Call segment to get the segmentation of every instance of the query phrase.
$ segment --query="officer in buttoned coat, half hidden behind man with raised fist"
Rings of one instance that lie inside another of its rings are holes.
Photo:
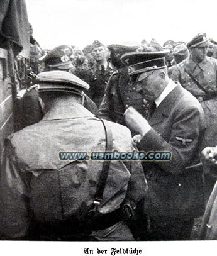
[[[123,113],[128,106],[135,106],[140,113],[148,112],[144,109],[143,97],[136,90],[136,85],[130,82],[128,66],[121,62],[124,53],[136,52],[138,45],[108,45],[110,61],[117,70],[111,75],[103,101],[99,107],[99,116],[109,121],[125,125]]]

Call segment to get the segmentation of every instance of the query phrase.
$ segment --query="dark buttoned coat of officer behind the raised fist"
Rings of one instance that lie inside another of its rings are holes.
[[[123,114],[129,106],[133,106],[143,116],[147,117],[149,104],[143,102],[143,97],[136,87],[130,82],[128,68],[111,75],[103,101],[99,107],[99,116],[109,121],[125,125]]]

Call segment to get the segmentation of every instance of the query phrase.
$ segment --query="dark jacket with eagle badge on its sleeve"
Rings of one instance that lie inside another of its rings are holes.
[[[201,215],[204,204],[202,173],[186,169],[199,162],[204,131],[201,105],[178,84],[148,122],[152,128],[138,148],[145,152],[171,152],[172,159],[143,162],[148,182],[145,210],[151,216],[194,218]]]

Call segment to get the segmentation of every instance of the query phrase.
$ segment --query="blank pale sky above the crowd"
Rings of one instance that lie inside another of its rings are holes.
[[[26,0],[33,36],[42,48],[84,48],[155,38],[188,42],[199,32],[217,40],[215,0]]]

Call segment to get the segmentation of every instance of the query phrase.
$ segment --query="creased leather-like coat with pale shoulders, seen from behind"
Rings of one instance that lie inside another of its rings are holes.
[[[128,128],[109,123],[113,148],[131,151]],[[73,220],[76,204],[92,205],[102,160],[60,160],[59,152],[105,150],[101,121],[83,106],[61,103],[43,119],[5,140],[0,180],[0,235],[18,238],[30,228],[30,212],[42,223]],[[99,215],[120,208],[125,198],[139,201],[146,183],[138,161],[112,161]],[[42,185],[43,184],[43,185]]]

